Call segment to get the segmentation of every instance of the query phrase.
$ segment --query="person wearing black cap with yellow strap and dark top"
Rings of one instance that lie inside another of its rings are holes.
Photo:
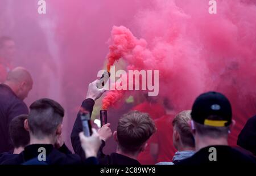
[[[207,92],[197,97],[191,118],[196,153],[177,165],[255,165],[252,156],[228,145],[228,134],[234,121],[230,102],[224,95]]]

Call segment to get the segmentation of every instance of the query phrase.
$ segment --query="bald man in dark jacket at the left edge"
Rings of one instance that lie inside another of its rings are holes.
[[[28,114],[23,100],[31,91],[33,80],[30,73],[22,67],[9,72],[5,83],[0,84],[0,153],[13,152],[8,132],[11,120],[21,114]]]

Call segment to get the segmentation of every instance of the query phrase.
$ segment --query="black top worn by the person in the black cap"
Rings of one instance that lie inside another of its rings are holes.
[[[209,148],[216,148],[216,161],[210,161],[209,155],[212,151]],[[212,145],[200,149],[200,151],[193,154],[185,160],[181,160],[176,165],[255,165],[253,156],[246,155],[237,149],[229,147],[228,145]]]

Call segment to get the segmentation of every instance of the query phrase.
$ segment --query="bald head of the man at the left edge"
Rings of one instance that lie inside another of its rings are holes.
[[[23,67],[16,67],[9,72],[5,84],[13,89],[16,96],[21,100],[27,97],[28,92],[31,91],[33,80],[30,73]]]

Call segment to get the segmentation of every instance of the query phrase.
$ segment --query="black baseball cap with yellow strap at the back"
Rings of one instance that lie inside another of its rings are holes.
[[[196,98],[191,118],[202,125],[229,126],[232,123],[232,108],[228,98],[221,93],[207,92]]]

